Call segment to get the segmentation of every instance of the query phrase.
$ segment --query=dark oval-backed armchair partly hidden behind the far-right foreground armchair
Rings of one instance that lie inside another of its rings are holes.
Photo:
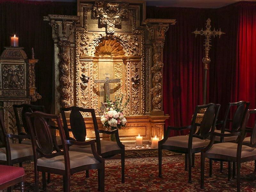
[[[215,130],[217,133],[232,133],[237,132],[242,126],[245,114],[247,109],[249,108],[250,102],[246,101],[238,101],[236,103],[228,103],[228,107],[225,112],[224,120],[217,121],[216,125],[222,125],[221,129]],[[235,112],[231,118],[230,116],[230,110],[235,108]],[[231,124],[231,130],[229,129],[229,125]],[[227,141],[235,141],[237,139],[237,136],[233,137],[215,137],[214,143],[220,143],[220,142],[227,142]],[[228,165],[230,166],[230,165]],[[233,163],[233,167],[236,167],[235,163]],[[220,172],[222,173],[223,170],[223,162],[220,162]],[[212,176],[212,160],[210,159],[210,177]],[[233,172],[233,177],[235,177],[235,172]],[[230,178],[228,178],[230,180]]]

